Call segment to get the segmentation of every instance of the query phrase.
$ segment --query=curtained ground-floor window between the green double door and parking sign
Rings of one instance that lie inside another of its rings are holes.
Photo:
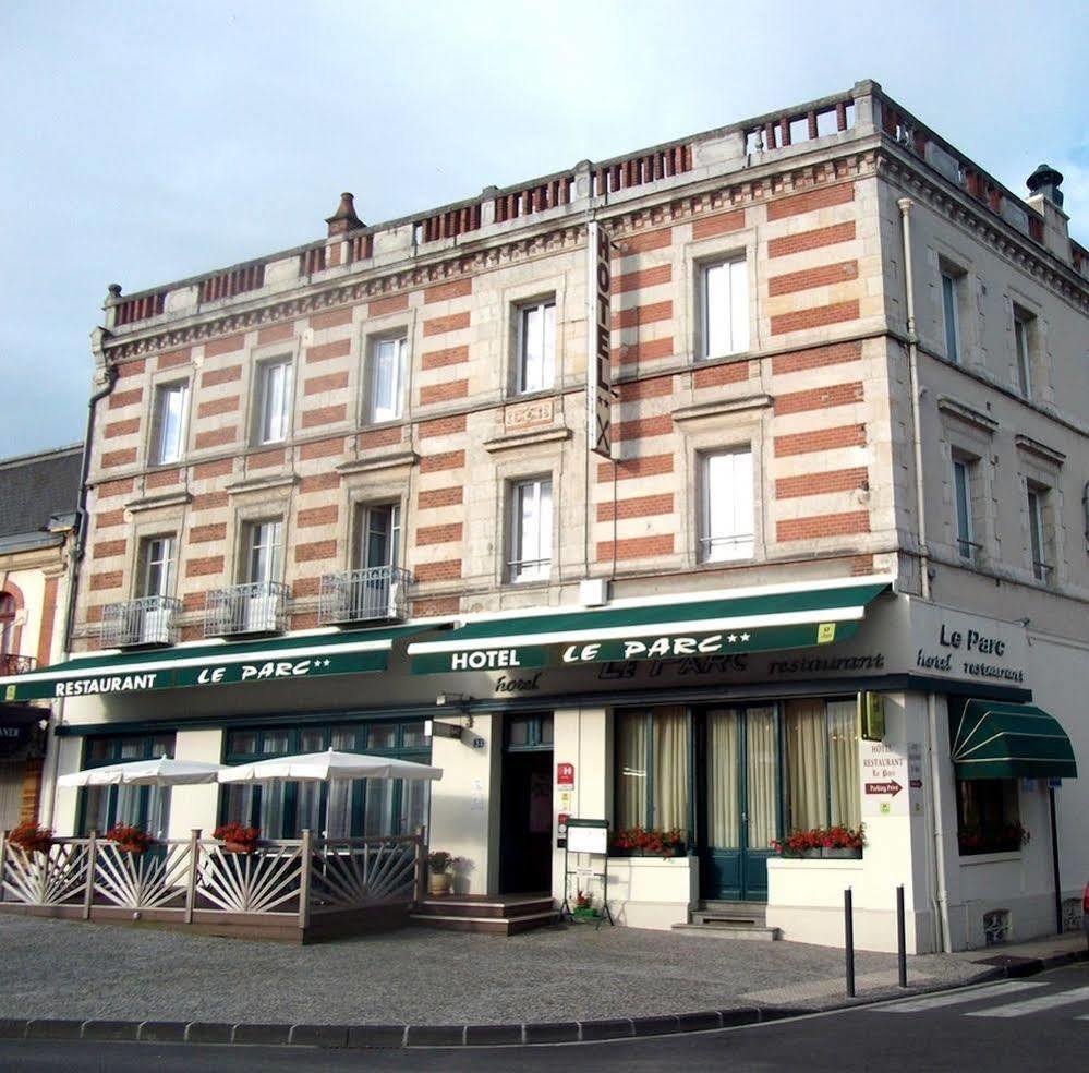
[[[784,718],[787,830],[857,828],[862,807],[856,701],[788,700]]]

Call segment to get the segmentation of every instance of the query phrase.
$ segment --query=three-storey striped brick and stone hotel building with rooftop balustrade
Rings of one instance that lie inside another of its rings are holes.
[[[570,815],[680,831],[609,861],[631,925],[766,901],[835,942],[851,885],[888,948],[897,884],[915,951],[1073,920],[1089,254],[1032,183],[863,82],[390,224],[344,195],[322,241],[111,288],[86,654],[17,686],[63,698],[61,770],[331,745],[445,777],[429,809],[62,792],[59,824],[428,822],[462,891],[560,897]],[[861,860],[770,860],[861,821]]]

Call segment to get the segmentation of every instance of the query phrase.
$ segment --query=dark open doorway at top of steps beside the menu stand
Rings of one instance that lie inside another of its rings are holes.
[[[552,715],[505,723],[499,893],[540,893],[552,889]]]

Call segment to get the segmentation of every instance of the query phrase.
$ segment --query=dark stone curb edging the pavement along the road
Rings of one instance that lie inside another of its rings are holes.
[[[991,965],[971,984],[1034,976],[1089,960],[1089,951],[1049,957],[1002,956],[978,962]],[[969,986],[969,985],[961,985]],[[932,988],[930,991],[955,990]],[[911,989],[907,994],[928,993]],[[898,997],[898,996],[897,996]],[[888,1002],[873,1000],[838,1002],[830,1006],[736,1006],[674,1016],[622,1017],[608,1021],[559,1021],[506,1025],[307,1025],[232,1024],[206,1021],[109,1021],[71,1018],[0,1018],[0,1040],[49,1039],[129,1041],[156,1044],[239,1044],[259,1047],[404,1048],[404,1047],[517,1047],[531,1044],[582,1044],[607,1039],[671,1036],[716,1028],[767,1024],[809,1013],[831,1013]]]

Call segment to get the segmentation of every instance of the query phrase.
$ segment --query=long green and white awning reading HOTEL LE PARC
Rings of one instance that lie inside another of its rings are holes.
[[[765,586],[617,601],[608,607],[489,616],[409,644],[413,674],[728,656],[852,637],[888,578]]]

